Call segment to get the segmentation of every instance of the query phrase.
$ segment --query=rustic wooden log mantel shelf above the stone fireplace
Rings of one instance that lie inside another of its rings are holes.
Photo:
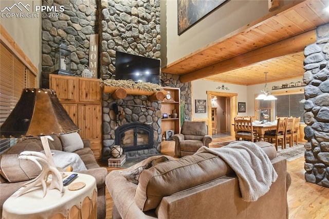
[[[163,100],[167,95],[166,90],[142,90],[136,88],[124,88],[124,87],[116,87],[116,86],[108,86],[104,85],[103,87],[104,93],[110,93],[114,97],[114,99],[124,99],[128,94],[130,95],[145,95],[149,96],[149,100],[158,101]]]

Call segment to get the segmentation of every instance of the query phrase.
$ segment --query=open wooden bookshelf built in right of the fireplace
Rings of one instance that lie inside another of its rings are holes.
[[[174,130],[174,134],[178,134],[180,131],[180,89],[173,87],[164,88],[167,93],[170,93],[171,99],[168,100],[166,97],[161,102],[161,112],[167,114],[168,118],[161,119],[161,130],[162,134],[165,134],[168,130]],[[172,113],[176,111],[177,117],[173,118]]]

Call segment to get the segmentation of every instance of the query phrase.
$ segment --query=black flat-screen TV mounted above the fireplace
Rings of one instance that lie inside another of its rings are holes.
[[[115,79],[159,84],[160,60],[116,51]]]

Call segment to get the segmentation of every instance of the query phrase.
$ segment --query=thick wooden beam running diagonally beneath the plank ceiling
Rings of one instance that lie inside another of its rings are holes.
[[[306,45],[312,44],[315,41],[316,30],[309,30],[277,43],[255,49],[241,54],[240,56],[236,56],[222,62],[217,62],[213,65],[181,75],[179,79],[182,83],[187,83],[197,79],[221,74],[226,71],[242,68],[264,60],[304,51]]]

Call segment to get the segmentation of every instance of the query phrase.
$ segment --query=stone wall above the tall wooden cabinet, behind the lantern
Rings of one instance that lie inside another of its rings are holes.
[[[89,65],[89,36],[98,33],[97,3],[96,0],[42,1],[44,6],[64,6],[64,12],[54,14],[53,17],[42,16],[43,73],[54,72],[54,50],[63,38],[72,52],[72,75],[81,76],[83,65]]]

